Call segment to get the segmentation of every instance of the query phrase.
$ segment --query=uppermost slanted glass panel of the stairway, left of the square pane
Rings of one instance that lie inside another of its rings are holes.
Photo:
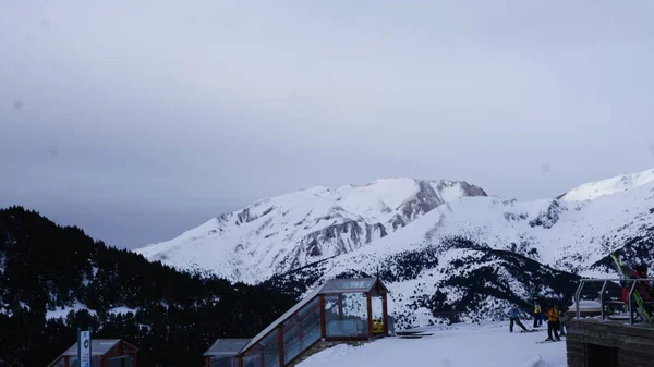
[[[283,323],[284,362],[295,358],[318,339],[320,339],[320,301],[316,297]]]

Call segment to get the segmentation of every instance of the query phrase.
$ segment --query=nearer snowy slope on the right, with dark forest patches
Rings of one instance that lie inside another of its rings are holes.
[[[571,302],[578,276],[614,271],[613,252],[654,265],[653,244],[654,182],[585,201],[464,197],[271,284],[302,294],[330,278],[379,274],[401,325],[436,321],[440,313],[493,319],[536,291]]]

